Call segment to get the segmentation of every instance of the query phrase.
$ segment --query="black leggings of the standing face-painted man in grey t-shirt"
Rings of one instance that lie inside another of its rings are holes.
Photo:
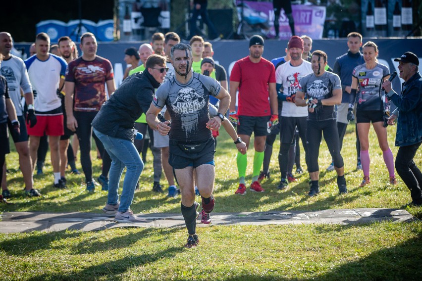
[[[319,146],[322,140],[327,143],[328,150],[334,161],[334,167],[341,168],[344,166],[343,157],[340,155],[340,141],[338,138],[337,125],[335,120],[314,121],[308,120],[306,126],[306,140],[309,152],[309,168],[310,173],[319,171],[318,156]]]

